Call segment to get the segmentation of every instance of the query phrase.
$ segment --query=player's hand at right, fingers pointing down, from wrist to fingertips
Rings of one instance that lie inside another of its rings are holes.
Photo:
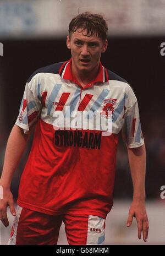
[[[127,227],[130,227],[133,221],[133,217],[136,218],[138,224],[138,238],[141,239],[141,232],[143,239],[146,242],[149,232],[149,220],[146,213],[144,201],[133,201],[129,209],[129,217],[127,220]]]

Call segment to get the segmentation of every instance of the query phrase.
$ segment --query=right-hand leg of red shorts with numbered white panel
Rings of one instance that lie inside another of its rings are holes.
[[[94,215],[63,217],[65,232],[70,245],[102,244],[105,240],[105,219]]]

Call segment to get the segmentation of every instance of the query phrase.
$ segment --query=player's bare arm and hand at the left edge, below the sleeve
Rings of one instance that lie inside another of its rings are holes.
[[[8,138],[4,156],[3,171],[0,179],[0,219],[5,227],[9,225],[7,206],[9,206],[12,215],[16,215],[13,195],[10,192],[10,184],[12,182],[14,171],[17,168],[21,156],[23,155],[28,138],[29,135],[24,134],[23,129],[18,127],[16,124]]]

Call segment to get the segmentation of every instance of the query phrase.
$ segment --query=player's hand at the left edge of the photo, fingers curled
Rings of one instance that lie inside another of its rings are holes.
[[[10,208],[10,212],[13,216],[16,216],[14,208],[14,200],[12,192],[9,188],[4,188],[0,185],[0,220],[5,227],[9,226],[9,221],[7,217],[7,206]]]

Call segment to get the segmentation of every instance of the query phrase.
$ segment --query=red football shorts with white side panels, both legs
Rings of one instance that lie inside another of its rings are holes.
[[[70,245],[102,244],[105,240],[105,219],[102,217],[52,216],[18,206],[8,244],[57,244],[62,221]]]

